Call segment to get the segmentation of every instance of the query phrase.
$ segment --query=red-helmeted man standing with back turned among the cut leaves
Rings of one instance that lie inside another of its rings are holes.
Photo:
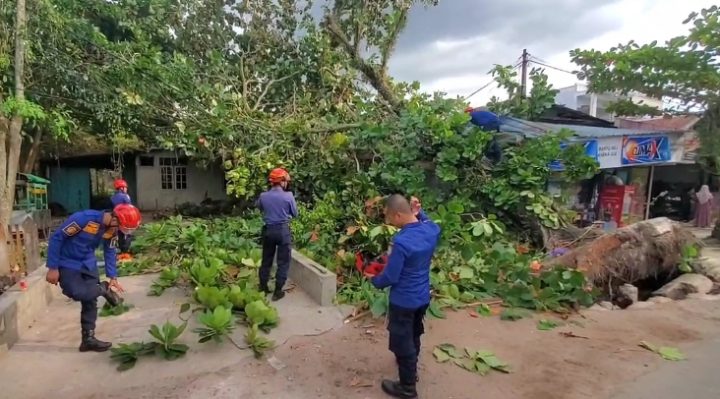
[[[290,220],[297,217],[295,197],[288,190],[290,174],[282,168],[273,169],[268,177],[270,190],[260,194],[256,206],[263,212],[265,225],[262,229],[262,264],[260,265],[260,290],[270,293],[268,281],[275,254],[277,253],[277,272],[273,301],[285,296],[283,287],[290,269],[292,235]]]

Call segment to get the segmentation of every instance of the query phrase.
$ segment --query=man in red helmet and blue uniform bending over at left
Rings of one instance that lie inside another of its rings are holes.
[[[57,285],[65,296],[80,302],[82,343],[80,352],[104,352],[110,342],[95,338],[97,298],[104,297],[112,306],[122,303],[116,293],[124,292],[117,280],[115,242],[118,231],[131,235],[140,226],[140,212],[128,204],[112,211],[87,210],[72,214],[50,237],[45,277]],[[95,249],[103,244],[105,274],[109,281],[100,282]]]

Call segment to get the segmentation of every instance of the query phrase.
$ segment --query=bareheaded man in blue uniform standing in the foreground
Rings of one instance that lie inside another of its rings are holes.
[[[395,355],[399,381],[384,380],[382,390],[396,398],[416,398],[417,362],[423,319],[430,304],[430,262],[440,239],[440,227],[422,211],[420,201],[396,194],[385,203],[385,221],[400,228],[387,265],[372,284],[390,287],[389,349]]]

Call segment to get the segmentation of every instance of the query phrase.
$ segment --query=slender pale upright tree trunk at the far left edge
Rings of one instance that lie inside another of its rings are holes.
[[[25,101],[25,0],[17,0],[15,10],[15,100],[22,106]],[[22,115],[16,113],[8,123],[0,120],[0,155],[5,159],[0,166],[0,275],[9,274],[10,251],[7,245],[8,226],[15,201],[15,177],[20,163],[22,146]]]

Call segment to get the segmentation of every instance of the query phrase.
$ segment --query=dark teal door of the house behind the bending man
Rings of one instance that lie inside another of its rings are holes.
[[[51,167],[50,181],[50,202],[69,213],[90,208],[90,169]]]

